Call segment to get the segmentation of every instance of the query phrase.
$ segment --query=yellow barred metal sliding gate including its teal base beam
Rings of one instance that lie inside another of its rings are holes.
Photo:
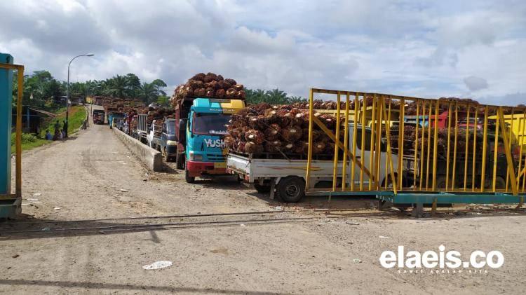
[[[314,116],[314,95],[323,95],[324,99],[330,99],[332,96],[337,101],[335,114],[339,116],[336,116],[335,130],[329,130]],[[344,102],[344,107],[340,107],[341,102]],[[524,201],[525,158],[521,156],[522,151],[515,153],[513,142],[516,140],[512,140],[513,132],[505,123],[504,114],[526,118],[526,108],[490,106],[464,100],[436,100],[315,88],[309,93],[309,107],[309,152],[305,176],[307,195],[377,195],[379,200],[394,205],[412,204],[422,207],[424,204],[431,204],[433,210],[437,204],[445,203],[522,205]],[[439,134],[438,116],[443,114],[444,109],[447,109],[447,126],[440,128]],[[398,130],[403,130],[402,132],[391,130],[391,113],[394,110],[399,114]],[[415,118],[422,115],[431,118],[431,123],[418,123],[414,130],[407,131],[404,128],[406,111],[416,113]],[[482,128],[478,128],[478,125],[460,126],[461,112],[465,113],[468,122],[470,116],[475,121],[483,122]],[[493,124],[488,123],[491,115],[497,118]],[[360,125],[349,124],[349,121]],[[335,137],[335,134],[340,134],[340,126],[345,129],[344,139]],[[372,155],[370,158],[364,158],[363,145],[359,149],[356,140],[349,141],[348,137],[349,128],[353,128],[356,134],[357,128],[363,128],[364,131],[365,126],[370,126],[373,130],[369,144]],[[311,148],[315,127],[323,130],[332,142],[335,142],[330,188],[311,188],[310,185],[316,178]],[[414,137],[408,137],[407,133]],[[464,146],[460,144],[460,137],[466,139]],[[518,144],[522,149],[523,138],[520,137],[520,140]],[[387,145],[387,159],[384,165],[382,157],[379,156],[382,141]],[[441,149],[438,146],[439,142]],[[412,149],[408,150],[407,146],[412,146]],[[394,158],[393,154],[403,156]],[[407,158],[412,161],[407,161]],[[443,160],[439,160],[440,158]],[[411,169],[407,167],[407,163],[410,162]],[[437,169],[438,165],[445,165],[445,169]],[[502,165],[505,167],[501,167]],[[350,172],[347,168],[349,166]],[[502,173],[503,169],[506,172]],[[381,174],[389,174],[389,184],[388,181],[383,181]],[[365,175],[372,181],[365,184]]]

